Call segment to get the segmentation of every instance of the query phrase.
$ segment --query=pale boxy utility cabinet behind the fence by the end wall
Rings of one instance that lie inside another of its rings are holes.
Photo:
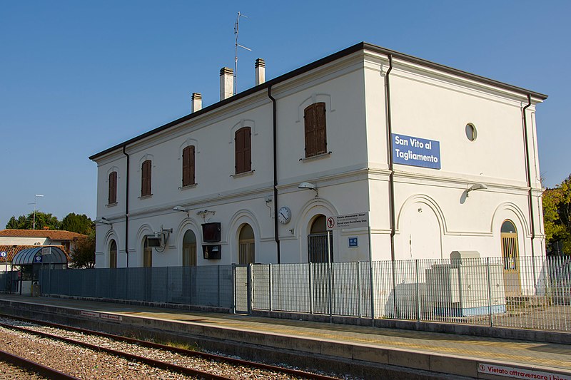
[[[438,315],[469,317],[505,312],[502,265],[487,265],[477,251],[454,251],[450,264],[426,269],[426,287]]]

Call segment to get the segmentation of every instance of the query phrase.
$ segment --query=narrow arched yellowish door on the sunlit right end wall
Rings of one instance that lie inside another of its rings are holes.
[[[520,255],[517,245],[517,230],[511,220],[504,220],[502,223],[501,239],[505,295],[517,297],[521,294]]]

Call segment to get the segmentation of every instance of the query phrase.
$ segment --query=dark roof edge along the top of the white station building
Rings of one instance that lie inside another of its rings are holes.
[[[147,138],[148,136],[159,133],[162,130],[166,130],[168,128],[171,128],[174,125],[178,125],[178,124],[183,123],[185,121],[191,120],[191,119],[196,118],[200,115],[203,115],[205,113],[216,110],[217,108],[220,108],[222,106],[226,106],[226,104],[228,104],[228,103],[238,101],[241,98],[245,98],[246,96],[250,96],[251,94],[256,93],[258,91],[262,91],[262,90],[264,90],[270,86],[275,86],[278,83],[281,83],[283,81],[287,81],[290,78],[293,78],[293,77],[298,76],[302,73],[306,73],[308,71],[311,71],[314,68],[324,66],[330,62],[338,60],[339,58],[343,58],[343,57],[348,56],[350,54],[353,54],[357,51],[363,51],[363,50],[373,51],[375,53],[380,53],[380,54],[383,54],[386,56],[388,56],[389,54],[392,54],[393,58],[400,59],[401,61],[407,61],[410,63],[416,63],[420,66],[425,66],[428,68],[434,68],[435,70],[440,70],[440,71],[443,71],[445,73],[450,73],[450,74],[453,74],[456,76],[460,76],[462,78],[468,78],[470,80],[477,81],[480,83],[485,83],[485,84],[490,85],[490,86],[495,86],[495,87],[502,88],[502,89],[505,89],[508,91],[513,91],[515,93],[520,93],[520,94],[522,94],[522,96],[527,96],[529,94],[532,97],[539,98],[541,100],[547,99],[547,95],[544,95],[542,93],[537,93],[535,91],[526,90],[525,88],[512,86],[512,85],[507,84],[507,83],[502,83],[502,82],[495,81],[495,80],[490,79],[490,78],[485,78],[484,76],[478,76],[478,75],[475,75],[473,73],[468,73],[466,71],[458,70],[456,68],[451,68],[451,67],[440,65],[438,63],[434,63],[431,61],[426,61],[425,59],[417,58],[415,56],[409,56],[408,54],[399,53],[398,51],[390,50],[388,48],[382,48],[380,46],[373,45],[372,43],[360,42],[360,43],[356,43],[353,46],[345,48],[341,51],[338,51],[337,53],[333,53],[330,56],[326,56],[324,58],[318,59],[318,61],[314,61],[312,63],[305,65],[305,66],[301,66],[300,68],[296,68],[293,71],[290,71],[290,72],[285,73],[281,76],[273,78],[270,81],[262,83],[258,86],[248,88],[248,90],[242,91],[241,93],[237,93],[235,96],[231,96],[230,98],[224,99],[223,101],[219,101],[218,103],[214,103],[211,106],[208,106],[206,108],[202,108],[200,111],[196,111],[196,112],[191,113],[189,115],[183,116],[182,118],[178,118],[176,120],[171,121],[171,123],[161,125],[158,128],[154,128],[152,130],[149,130],[148,132],[143,133],[141,135],[138,135],[138,136],[131,138],[129,140],[126,140],[123,143],[114,145],[111,148],[108,148],[108,149],[103,150],[99,153],[91,155],[89,157],[89,159],[90,160],[96,160],[97,158],[101,157],[102,155],[106,155],[107,153],[111,153],[114,150],[118,150],[120,148],[123,148],[123,146],[130,145],[132,143],[136,143],[137,141],[142,140],[143,138]]]

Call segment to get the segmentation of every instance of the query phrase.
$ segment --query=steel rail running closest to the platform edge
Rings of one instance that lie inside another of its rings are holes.
[[[69,330],[69,331],[73,331],[73,332],[81,332],[84,334],[91,334],[91,335],[96,335],[98,337],[106,337],[108,339],[113,339],[116,341],[120,341],[120,342],[125,342],[125,343],[130,343],[130,344],[137,344],[138,346],[146,346],[149,348],[153,348],[153,349],[163,349],[166,351],[171,351],[173,353],[176,354],[183,354],[185,356],[196,356],[196,357],[201,357],[202,359],[210,359],[213,361],[221,361],[221,362],[226,362],[228,364],[236,364],[236,365],[241,365],[241,366],[250,366],[253,368],[257,368],[257,369],[266,369],[268,371],[276,371],[276,372],[281,372],[284,374],[290,374],[293,376],[298,376],[298,377],[302,377],[302,378],[307,378],[307,379],[317,379],[317,380],[331,380],[331,379],[335,379],[334,377],[330,377],[330,376],[325,376],[325,375],[320,375],[320,374],[313,374],[310,372],[306,372],[306,371],[300,371],[298,369],[289,369],[289,368],[284,368],[281,366],[273,366],[271,364],[263,364],[263,363],[258,363],[256,361],[247,361],[247,360],[243,360],[243,359],[236,359],[236,358],[231,358],[228,356],[221,356],[221,355],[215,355],[215,354],[207,354],[206,352],[199,352],[199,351],[192,351],[189,349],[182,349],[182,348],[178,348],[178,347],[173,347],[173,346],[166,346],[164,344],[158,344],[158,343],[154,343],[154,342],[148,342],[145,340],[140,340],[140,339],[134,339],[134,338],[128,338],[128,337],[123,337],[121,335],[114,335],[114,334],[107,334],[105,332],[96,332],[94,330],[89,330],[89,329],[82,329],[80,327],[71,327],[71,326],[66,326],[63,324],[55,324],[55,323],[51,323],[51,322],[44,322],[44,321],[39,321],[37,319],[29,319],[29,318],[23,318],[23,317],[13,317],[11,315],[8,314],[1,314],[0,313],[0,317],[6,317],[6,318],[10,318],[10,319],[15,319],[15,320],[21,320],[24,322],[30,322],[30,323],[34,323],[34,324],[40,324],[40,325],[44,325],[46,327],[54,327],[57,329],[65,329],[65,330]],[[1,326],[4,326],[4,324],[1,324]],[[11,328],[11,325],[6,325],[6,328]],[[30,329],[25,329],[25,328],[19,328],[19,329],[24,329],[26,332],[32,332],[32,333],[36,333],[33,330]],[[46,333],[40,333],[40,334],[46,334]],[[48,334],[49,335],[49,334]],[[61,338],[61,337],[57,337],[54,336],[54,338],[56,339],[67,339],[67,338]],[[80,342],[81,343],[81,342]],[[101,347],[102,349],[105,349],[103,347]],[[161,362],[162,363],[162,362]],[[181,368],[186,368],[186,367],[181,367]],[[226,379],[225,377],[221,377],[221,378],[213,378],[213,379]]]

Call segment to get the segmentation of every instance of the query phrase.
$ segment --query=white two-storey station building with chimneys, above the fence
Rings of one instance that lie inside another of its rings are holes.
[[[91,156],[96,267],[545,255],[547,96],[368,43],[270,81],[264,65]]]

